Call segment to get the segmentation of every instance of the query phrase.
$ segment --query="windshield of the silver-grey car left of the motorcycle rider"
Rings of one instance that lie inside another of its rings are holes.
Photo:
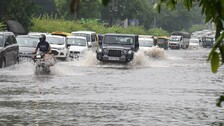
[[[20,47],[36,47],[39,41],[38,38],[17,37],[17,43]]]

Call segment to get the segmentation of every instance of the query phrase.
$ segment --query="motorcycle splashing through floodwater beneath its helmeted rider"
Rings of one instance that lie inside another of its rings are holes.
[[[51,58],[49,60],[49,57]],[[50,67],[54,65],[52,61],[53,56],[45,53],[37,53],[34,57],[34,62],[36,63],[35,73],[36,74],[50,74]]]

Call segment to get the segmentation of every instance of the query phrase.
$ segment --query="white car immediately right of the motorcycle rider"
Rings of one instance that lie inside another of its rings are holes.
[[[69,49],[67,45],[67,39],[58,35],[47,35],[46,41],[51,46],[51,52],[55,58],[66,60],[69,56]]]

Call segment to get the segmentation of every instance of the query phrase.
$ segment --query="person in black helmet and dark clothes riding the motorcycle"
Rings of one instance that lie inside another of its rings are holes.
[[[50,54],[51,53],[51,46],[46,41],[46,36],[44,34],[41,34],[39,40],[40,40],[40,42],[37,44],[35,54],[37,53],[38,49],[39,49],[39,51],[41,51],[43,53]]]

